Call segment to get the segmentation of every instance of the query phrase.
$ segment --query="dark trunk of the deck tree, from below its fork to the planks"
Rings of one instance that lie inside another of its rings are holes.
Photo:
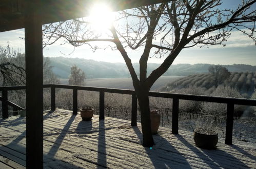
[[[143,146],[151,147],[154,145],[150,125],[149,92],[146,90],[136,91],[141,110],[141,124],[143,135]]]

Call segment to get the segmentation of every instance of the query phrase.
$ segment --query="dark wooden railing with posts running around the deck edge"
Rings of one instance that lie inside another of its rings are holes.
[[[73,114],[77,114],[77,90],[95,91],[100,95],[100,119],[105,118],[105,93],[119,93],[128,94],[132,97],[132,110],[131,110],[131,125],[137,125],[137,98],[134,90],[124,89],[111,89],[111,88],[97,88],[86,86],[72,86],[72,85],[44,85],[44,88],[51,89],[51,110],[55,110],[55,89],[72,89],[73,90]],[[10,90],[22,90],[26,89],[25,86],[18,87],[0,87],[2,91],[2,107],[3,118],[8,117],[8,91]],[[227,104],[227,118],[226,118],[226,137],[225,143],[232,144],[233,134],[233,118],[234,118],[234,104],[251,105],[256,106],[256,100],[243,99],[243,98],[227,98],[227,97],[214,97],[214,96],[201,96],[201,95],[189,95],[189,94],[176,94],[176,93],[162,93],[162,92],[150,92],[149,96],[172,98],[172,134],[178,134],[178,121],[179,121],[179,100],[193,100],[193,101],[205,101]]]

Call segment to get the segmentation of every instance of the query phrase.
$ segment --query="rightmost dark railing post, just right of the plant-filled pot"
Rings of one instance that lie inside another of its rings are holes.
[[[229,145],[232,145],[233,119],[234,119],[234,104],[228,103],[225,144],[229,144]]]

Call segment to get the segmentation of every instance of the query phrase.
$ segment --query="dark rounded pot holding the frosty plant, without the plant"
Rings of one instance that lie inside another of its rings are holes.
[[[194,132],[194,141],[196,146],[202,149],[216,149],[216,144],[218,143],[218,134],[206,135]]]

